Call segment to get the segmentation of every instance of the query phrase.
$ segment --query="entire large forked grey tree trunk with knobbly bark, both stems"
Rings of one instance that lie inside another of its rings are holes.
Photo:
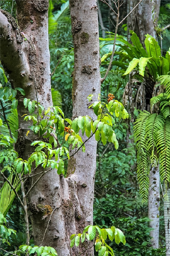
[[[95,0],[70,1],[72,33],[75,51],[73,74],[73,118],[89,115],[96,118],[89,104],[100,93],[99,30]],[[48,0],[16,1],[17,20],[0,11],[1,61],[8,71],[12,86],[25,90],[25,97],[37,100],[47,109],[52,106],[50,88],[50,55],[48,48]],[[33,21],[33,22],[30,22]],[[25,38],[25,40],[24,40]],[[37,94],[37,96],[36,96]],[[89,103],[87,96],[94,94]],[[18,103],[19,131],[16,150],[27,159],[34,151],[35,140],[30,123],[23,121],[27,110],[23,98]],[[43,139],[43,138],[41,138]],[[83,140],[86,136],[83,137]],[[70,235],[78,234],[93,223],[94,177],[96,146],[92,137],[86,143],[86,152],[78,152],[69,160],[64,178],[56,170],[46,173],[29,193],[28,209],[36,245],[54,247],[60,256],[94,255],[91,242],[70,249]],[[37,168],[34,174],[42,172]],[[34,176],[25,185],[27,192],[38,178]],[[44,214],[45,211],[45,214]]]

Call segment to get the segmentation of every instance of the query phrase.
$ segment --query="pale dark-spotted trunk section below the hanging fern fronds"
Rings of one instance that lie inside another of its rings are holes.
[[[158,166],[153,166],[149,174],[148,218],[152,236],[152,246],[159,248],[159,214],[160,214],[160,175]]]

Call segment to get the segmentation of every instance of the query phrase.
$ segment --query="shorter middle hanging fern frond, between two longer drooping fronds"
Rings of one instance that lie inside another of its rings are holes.
[[[156,137],[157,131],[162,129],[163,125],[163,117],[161,115],[157,115],[156,113],[150,115],[146,121],[145,139],[147,143],[147,151],[150,155],[150,161],[152,165],[158,160],[157,156],[155,155]]]

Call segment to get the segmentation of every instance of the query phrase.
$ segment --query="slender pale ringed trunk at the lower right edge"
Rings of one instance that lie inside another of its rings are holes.
[[[164,185],[165,191],[165,185]],[[165,223],[165,243],[166,256],[170,255],[170,188],[168,184],[167,198],[164,199],[164,223]]]

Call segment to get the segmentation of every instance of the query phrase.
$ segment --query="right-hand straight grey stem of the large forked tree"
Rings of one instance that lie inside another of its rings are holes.
[[[88,106],[96,101],[100,93],[100,56],[97,4],[94,0],[69,1],[71,12],[72,34],[74,42],[75,69],[73,73],[73,118],[89,115],[93,120],[96,115]],[[88,102],[87,96],[94,94]],[[83,140],[87,139],[86,136]],[[75,219],[76,233],[82,232],[84,226],[93,223],[94,176],[96,170],[97,142],[92,137],[86,144],[86,152],[81,150],[69,160],[68,174],[74,179],[78,198],[78,209]],[[80,251],[87,247],[80,245]],[[89,247],[89,246],[88,246]],[[76,249],[75,254],[78,253]],[[82,255],[93,255],[93,247]]]

